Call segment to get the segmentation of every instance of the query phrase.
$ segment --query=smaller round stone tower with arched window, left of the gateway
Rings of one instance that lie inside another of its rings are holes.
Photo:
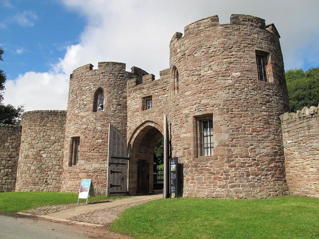
[[[61,191],[77,192],[81,179],[92,178],[97,194],[106,193],[108,126],[126,138],[130,74],[125,63],[99,62],[98,69],[88,64],[70,75]]]

